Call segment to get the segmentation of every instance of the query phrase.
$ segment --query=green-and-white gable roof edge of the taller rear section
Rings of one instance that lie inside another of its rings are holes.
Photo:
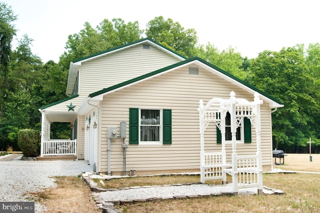
[[[95,53],[95,54],[91,54],[91,55],[88,55],[86,57],[82,57],[82,58],[79,58],[79,59],[75,59],[73,60],[72,62],[70,62],[70,66],[69,66],[69,74],[68,74],[68,81],[67,81],[67,86],[66,86],[66,94],[71,94],[72,93],[72,90],[73,90],[73,85],[75,83],[75,80],[76,80],[76,76],[77,76],[77,72],[79,70],[79,67],[81,65],[82,62],[85,62],[85,61],[88,61],[88,60],[92,60],[94,58],[97,58],[97,57],[101,57],[101,56],[104,56],[104,55],[107,55],[107,54],[111,54],[113,52],[116,52],[116,51],[119,51],[119,50],[123,50],[125,48],[128,48],[128,47],[131,47],[131,46],[134,46],[134,45],[138,45],[138,44],[141,44],[141,43],[148,43],[148,44],[151,44],[159,49],[161,49],[162,51],[176,57],[176,58],[179,58],[180,60],[185,60],[186,57],[184,57],[183,55],[173,51],[172,49],[169,49],[168,47],[160,44],[160,43],[157,43],[156,41],[150,39],[150,38],[142,38],[140,40],[136,40],[136,41],[133,41],[133,42],[130,42],[130,43],[127,43],[127,44],[124,44],[124,45],[121,45],[121,46],[116,46],[114,48],[110,48],[110,49],[107,49],[105,51],[101,51],[101,52],[98,52],[98,53]]]

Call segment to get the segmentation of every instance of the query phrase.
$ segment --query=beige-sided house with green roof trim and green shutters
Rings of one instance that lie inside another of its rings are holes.
[[[258,92],[263,100],[262,165],[270,170],[271,113],[281,102],[199,57],[187,59],[148,38],[70,63],[69,97],[39,109],[39,158],[70,155],[108,174],[199,171],[199,100],[229,98],[231,91],[249,101]],[[50,123],[57,121],[71,124],[72,138],[50,139]],[[206,150],[221,149],[217,132],[214,125],[207,128]],[[253,129],[239,125],[236,134],[239,153],[256,151]],[[230,140],[230,134],[225,137]]]

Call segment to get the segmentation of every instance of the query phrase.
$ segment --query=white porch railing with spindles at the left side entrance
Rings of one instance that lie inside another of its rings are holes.
[[[43,156],[76,155],[76,139],[44,140],[42,144]]]

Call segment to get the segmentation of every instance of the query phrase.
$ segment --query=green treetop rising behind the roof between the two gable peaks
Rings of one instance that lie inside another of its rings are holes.
[[[198,40],[196,31],[193,28],[184,29],[171,18],[164,20],[162,16],[158,16],[150,20],[146,25],[145,35],[184,56],[195,56]]]

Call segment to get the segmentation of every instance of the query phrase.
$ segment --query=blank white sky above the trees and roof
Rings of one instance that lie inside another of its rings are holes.
[[[194,28],[200,44],[219,50],[232,46],[241,55],[256,57],[298,43],[320,42],[320,1],[317,0],[0,0],[18,15],[17,38],[32,38],[31,50],[43,62],[58,61],[69,34],[88,21],[94,28],[104,18],[138,21],[156,16]],[[16,41],[12,42],[15,48]]]

